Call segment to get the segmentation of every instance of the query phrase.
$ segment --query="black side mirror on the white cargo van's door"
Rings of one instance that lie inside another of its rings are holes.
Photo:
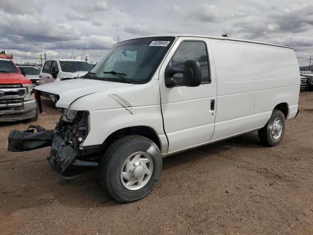
[[[173,75],[175,73],[182,73],[182,83],[178,84]],[[187,87],[197,87],[201,84],[201,65],[197,60],[186,60],[182,70],[176,70],[169,64],[165,69],[165,86],[175,87],[176,85],[182,85]]]

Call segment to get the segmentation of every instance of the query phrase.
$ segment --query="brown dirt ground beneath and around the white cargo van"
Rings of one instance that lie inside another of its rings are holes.
[[[163,159],[147,197],[110,199],[95,172],[64,180],[50,169],[49,148],[7,152],[0,124],[0,234],[313,234],[313,92],[300,94],[297,118],[276,147],[257,132]],[[53,128],[60,113],[44,100],[35,124]],[[32,123],[33,124],[33,123]]]

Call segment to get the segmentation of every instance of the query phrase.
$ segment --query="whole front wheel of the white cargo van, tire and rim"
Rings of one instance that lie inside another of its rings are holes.
[[[101,185],[119,202],[147,196],[161,172],[159,148],[153,141],[138,135],[124,136],[113,142],[99,166]]]

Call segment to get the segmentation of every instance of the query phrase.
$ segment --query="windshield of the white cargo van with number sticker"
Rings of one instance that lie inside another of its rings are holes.
[[[88,78],[145,83],[150,80],[174,39],[153,37],[118,43],[90,71]]]

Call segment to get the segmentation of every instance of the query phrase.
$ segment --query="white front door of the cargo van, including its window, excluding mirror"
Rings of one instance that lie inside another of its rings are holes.
[[[207,39],[179,37],[161,66],[161,109],[169,141],[168,154],[205,144],[213,135],[217,87],[210,71],[208,48]],[[186,60],[200,62],[201,85],[183,86],[182,74],[176,73],[173,78],[178,85],[166,87],[166,66],[171,63],[174,69],[179,70]]]

